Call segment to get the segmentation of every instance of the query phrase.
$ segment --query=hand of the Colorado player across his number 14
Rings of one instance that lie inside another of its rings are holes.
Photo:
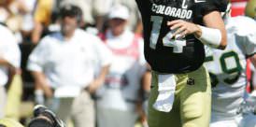
[[[184,37],[193,34],[196,35],[196,37],[199,37],[202,35],[200,27],[192,22],[182,20],[167,21],[167,25],[171,30],[176,30],[173,36],[180,35],[181,37]]]

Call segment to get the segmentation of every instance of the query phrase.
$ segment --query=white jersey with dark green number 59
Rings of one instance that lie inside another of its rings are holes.
[[[206,47],[206,68],[211,75],[212,116],[232,119],[244,101],[246,59],[256,52],[256,22],[243,16],[225,20],[228,45]]]

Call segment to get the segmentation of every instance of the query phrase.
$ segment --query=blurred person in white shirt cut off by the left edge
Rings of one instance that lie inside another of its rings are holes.
[[[9,70],[20,67],[21,51],[16,37],[4,25],[0,24],[0,119],[5,116],[7,104],[7,85]]]

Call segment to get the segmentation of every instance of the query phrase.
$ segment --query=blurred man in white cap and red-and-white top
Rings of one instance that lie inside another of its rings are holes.
[[[101,35],[114,58],[105,85],[97,92],[99,127],[134,127],[138,119],[135,106],[146,62],[143,39],[126,29],[129,18],[127,7],[112,7],[108,15],[109,29]]]

